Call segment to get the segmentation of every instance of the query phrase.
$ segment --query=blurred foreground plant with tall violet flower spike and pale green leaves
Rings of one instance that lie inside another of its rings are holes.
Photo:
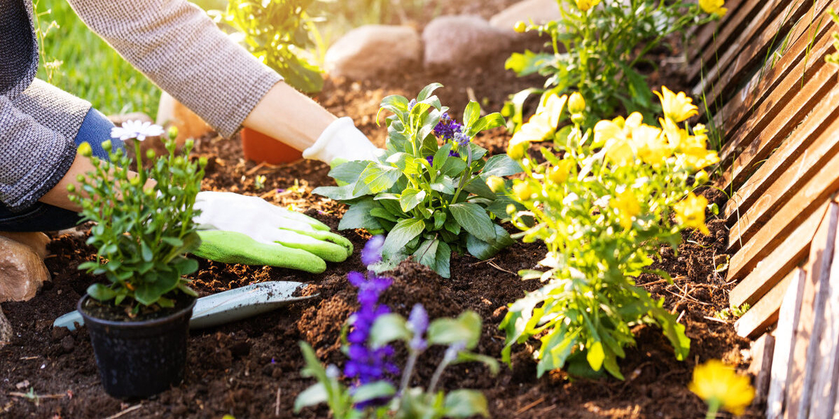
[[[362,251],[362,261],[369,267],[382,258],[383,240],[375,236]],[[481,337],[481,318],[466,311],[457,318],[437,318],[429,323],[428,313],[421,304],[414,305],[408,319],[390,313],[387,306],[378,303],[378,297],[390,286],[390,278],[378,277],[373,272],[367,278],[351,272],[347,278],[358,287],[361,308],[352,314],[352,330],[347,335],[349,360],[344,374],[352,385],[341,383],[341,371],[336,365],[324,368],[309,344],[300,343],[306,367],[303,375],[318,381],[297,396],[294,411],[305,406],[326,402],[336,419],[364,417],[427,418],[489,416],[487,399],[480,391],[459,389],[439,391],[437,384],[446,367],[462,362],[482,362],[498,373],[498,362],[481,354],[472,354]],[[398,375],[393,365],[390,344],[401,341],[408,349],[399,389],[388,379]],[[446,352],[431,376],[429,385],[409,387],[414,365],[430,345],[444,345]]]

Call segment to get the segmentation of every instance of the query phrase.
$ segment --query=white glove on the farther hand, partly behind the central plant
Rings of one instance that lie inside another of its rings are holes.
[[[313,158],[331,164],[341,161],[375,160],[384,151],[373,145],[363,132],[358,131],[352,118],[344,116],[329,124],[311,147],[303,150],[303,158]]]

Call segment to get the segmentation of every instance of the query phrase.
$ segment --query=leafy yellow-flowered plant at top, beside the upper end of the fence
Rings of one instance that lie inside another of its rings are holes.
[[[518,131],[524,122],[524,101],[534,94],[542,101],[550,95],[578,91],[586,97],[588,114],[612,117],[621,107],[627,112],[654,115],[659,111],[638,65],[654,65],[647,54],[670,34],[685,34],[690,26],[707,23],[722,14],[722,0],[557,0],[561,18],[542,25],[521,22],[519,32],[538,31],[550,36],[550,53],[513,53],[505,67],[519,76],[547,77],[542,88],[513,95],[504,106],[508,127]],[[711,13],[711,14],[706,14]],[[704,16],[703,16],[704,15]]]

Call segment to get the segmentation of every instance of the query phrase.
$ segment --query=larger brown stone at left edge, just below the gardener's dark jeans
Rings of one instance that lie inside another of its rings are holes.
[[[29,246],[0,237],[0,303],[26,301],[35,296],[50,272]]]

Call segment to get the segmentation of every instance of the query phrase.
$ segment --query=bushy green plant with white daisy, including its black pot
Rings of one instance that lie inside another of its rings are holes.
[[[206,159],[191,162],[175,153],[175,135],[166,142],[168,155],[145,157],[139,141],[163,129],[148,122],[128,122],[113,135],[134,142],[138,174],[122,150],[110,162],[91,157],[94,170],[70,185],[70,199],[82,208],[82,222],[95,221],[87,243],[96,247],[96,261],[79,269],[107,277],[81,297],[78,310],[91,334],[96,365],[105,391],[117,398],[147,397],[183,380],[189,320],[197,294],[184,276],[198,268],[185,253],[200,243],[193,209],[201,189]],[[185,143],[188,155],[193,144]],[[110,141],[102,143],[110,150]],[[157,182],[155,183],[154,180]]]

